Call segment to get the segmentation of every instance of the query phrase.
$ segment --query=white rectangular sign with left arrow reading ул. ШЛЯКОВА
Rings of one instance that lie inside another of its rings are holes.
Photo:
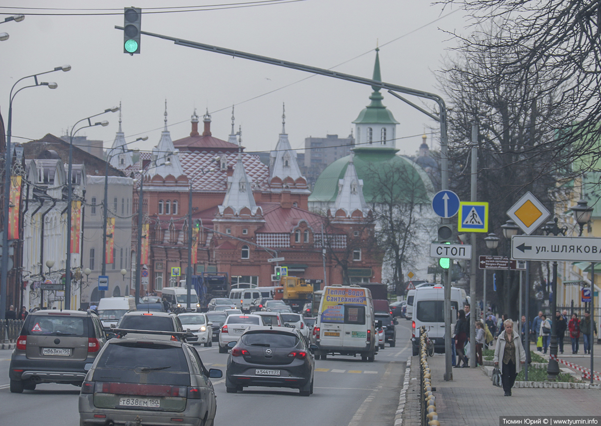
[[[601,238],[516,235],[511,258],[526,261],[601,262]]]

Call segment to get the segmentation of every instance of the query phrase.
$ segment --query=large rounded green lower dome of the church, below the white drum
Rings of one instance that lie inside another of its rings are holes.
[[[354,150],[353,164],[359,179],[363,179],[363,195],[367,203],[377,202],[378,181],[383,178],[377,176],[378,171],[383,173],[392,168],[402,170],[406,174],[404,185],[398,185],[396,197],[400,199],[413,198],[415,203],[430,203],[434,195],[434,187],[428,174],[419,165],[408,158],[397,155],[395,148],[358,147]],[[349,165],[350,155],[337,159],[328,165],[319,175],[309,202],[334,203],[338,195],[338,179],[343,179]]]

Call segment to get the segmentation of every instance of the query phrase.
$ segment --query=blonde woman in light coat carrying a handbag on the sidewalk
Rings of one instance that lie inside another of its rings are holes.
[[[511,397],[511,387],[516,381],[517,373],[522,370],[522,365],[526,362],[526,353],[519,334],[513,330],[513,321],[505,319],[503,325],[505,329],[496,341],[493,360],[495,366],[498,366],[501,370],[501,382],[505,397]]]

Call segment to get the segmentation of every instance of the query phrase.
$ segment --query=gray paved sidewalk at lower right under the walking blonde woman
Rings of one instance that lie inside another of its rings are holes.
[[[428,358],[432,386],[436,388],[436,412],[442,426],[496,425],[499,416],[598,416],[601,391],[597,389],[530,389],[513,388],[513,396],[504,397],[502,387],[495,387],[482,367],[453,368],[453,381],[444,381],[445,356],[435,354]],[[414,356],[410,377],[419,382],[419,359]],[[419,388],[410,386],[407,404],[417,404]],[[406,411],[407,414],[409,411]],[[418,419],[403,416],[403,425],[419,425]]]

